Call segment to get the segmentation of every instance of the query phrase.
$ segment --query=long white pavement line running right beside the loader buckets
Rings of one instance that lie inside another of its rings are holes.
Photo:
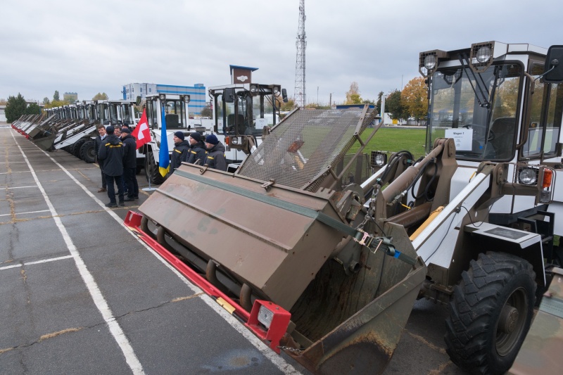
[[[215,312],[217,312],[217,314],[219,314],[221,317],[223,317],[223,319],[225,319],[225,321],[227,321],[227,323],[229,323],[236,331],[241,333],[244,338],[246,338],[252,345],[254,345],[254,347],[256,349],[258,349],[262,353],[262,355],[264,355],[264,357],[266,357],[268,360],[270,360],[270,362],[272,362],[272,364],[274,364],[278,369],[280,369],[280,371],[282,371],[282,372],[284,372],[284,374],[288,374],[288,375],[301,374],[301,372],[297,371],[293,366],[291,366],[291,364],[286,362],[286,360],[284,360],[283,357],[281,357],[280,355],[277,355],[265,343],[262,343],[262,341],[260,341],[260,339],[258,337],[254,336],[253,333],[251,333],[250,331],[248,331],[248,329],[246,329],[244,326],[242,326],[241,322],[236,320],[235,317],[233,317],[231,314],[229,314],[227,311],[225,311],[223,307],[218,305],[212,298],[210,298],[208,295],[203,293],[200,288],[198,288],[194,284],[191,284],[191,282],[188,281],[184,277],[184,275],[180,274],[177,271],[177,269],[172,267],[166,260],[164,260],[160,255],[158,255],[158,253],[156,253],[156,251],[154,251],[150,246],[146,245],[146,243],[141,241],[141,239],[139,239],[139,237],[137,237],[132,231],[129,231],[129,228],[127,228],[125,226],[125,223],[123,222],[121,217],[119,217],[115,212],[113,212],[113,210],[109,210],[102,201],[100,201],[96,196],[94,196],[93,193],[91,193],[91,191],[88,190],[88,188],[86,186],[84,186],[80,181],[75,179],[75,177],[72,176],[72,174],[70,174],[70,172],[68,172],[68,170],[66,170],[66,168],[63,167],[63,165],[57,163],[56,160],[51,158],[51,155],[49,155],[49,153],[46,153],[45,151],[43,151],[43,153],[46,155],[47,158],[51,159],[51,161],[53,163],[55,163],[55,165],[57,167],[61,168],[61,170],[63,172],[65,172],[68,175],[68,177],[70,177],[70,179],[72,179],[72,181],[75,182],[75,184],[80,186],[82,188],[82,190],[84,190],[84,192],[87,193],[88,196],[90,196],[90,198],[94,199],[94,201],[96,201],[96,203],[98,203],[101,206],[101,208],[106,210],[108,212],[108,214],[111,217],[113,217],[113,219],[116,222],[118,222],[122,227],[127,229],[127,232],[129,234],[131,234],[131,236],[134,239],[136,239],[142,246],[144,246],[144,248],[146,248],[148,251],[150,251],[156,257],[156,259],[160,260],[160,262],[162,262],[163,265],[165,265],[166,267],[171,269],[172,272],[174,272],[179,277],[179,279],[182,279],[182,281],[184,281],[184,283],[187,286],[189,286],[189,288],[191,288],[191,290],[194,291],[194,293],[201,293],[201,295],[198,298],[201,298],[203,300],[203,302],[205,302],[213,310],[215,310]],[[30,166],[30,169],[31,169],[31,166]]]

